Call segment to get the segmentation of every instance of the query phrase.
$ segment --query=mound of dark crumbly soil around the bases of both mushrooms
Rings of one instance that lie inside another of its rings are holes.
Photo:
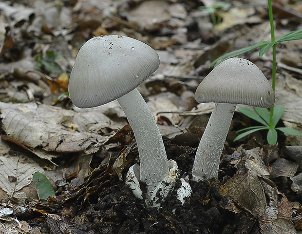
[[[169,142],[167,145],[168,157],[175,160],[181,174],[186,175],[191,170],[196,149]],[[223,199],[218,193],[217,180],[189,181],[193,193],[184,205],[173,190],[159,208],[134,198],[124,181],[111,181],[114,182],[99,193],[97,202],[82,211],[77,207],[76,216],[85,214],[91,225],[89,233],[239,234],[250,231],[255,223],[255,218],[248,213],[234,214],[220,206]],[[180,180],[175,188],[179,186]]]

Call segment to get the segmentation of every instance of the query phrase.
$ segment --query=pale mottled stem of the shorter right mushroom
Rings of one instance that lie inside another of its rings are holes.
[[[236,104],[216,103],[200,140],[192,169],[194,180],[217,178],[221,153]]]

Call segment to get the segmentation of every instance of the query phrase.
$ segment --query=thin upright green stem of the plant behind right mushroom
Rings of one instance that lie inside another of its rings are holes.
[[[273,8],[271,0],[267,0],[268,3],[268,14],[269,14],[269,23],[270,23],[270,33],[271,33],[271,41],[275,41],[275,28],[274,28],[274,16],[273,16]],[[275,83],[276,83],[276,44],[273,45],[273,68],[272,68],[272,88],[275,91]],[[274,107],[270,108],[270,119],[269,119],[269,128],[274,128],[273,124],[273,115],[274,115]]]

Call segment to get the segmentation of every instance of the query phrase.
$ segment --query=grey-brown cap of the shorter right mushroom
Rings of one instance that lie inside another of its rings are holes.
[[[217,102],[271,108],[275,103],[272,86],[252,62],[229,58],[217,65],[198,86],[199,103]]]

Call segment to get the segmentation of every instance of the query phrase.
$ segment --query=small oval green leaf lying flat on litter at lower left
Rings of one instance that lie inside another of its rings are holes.
[[[50,184],[49,180],[45,175],[40,172],[35,172],[33,175],[33,183],[35,184],[38,197],[40,199],[46,200],[48,197],[54,197],[55,191],[53,186]]]

